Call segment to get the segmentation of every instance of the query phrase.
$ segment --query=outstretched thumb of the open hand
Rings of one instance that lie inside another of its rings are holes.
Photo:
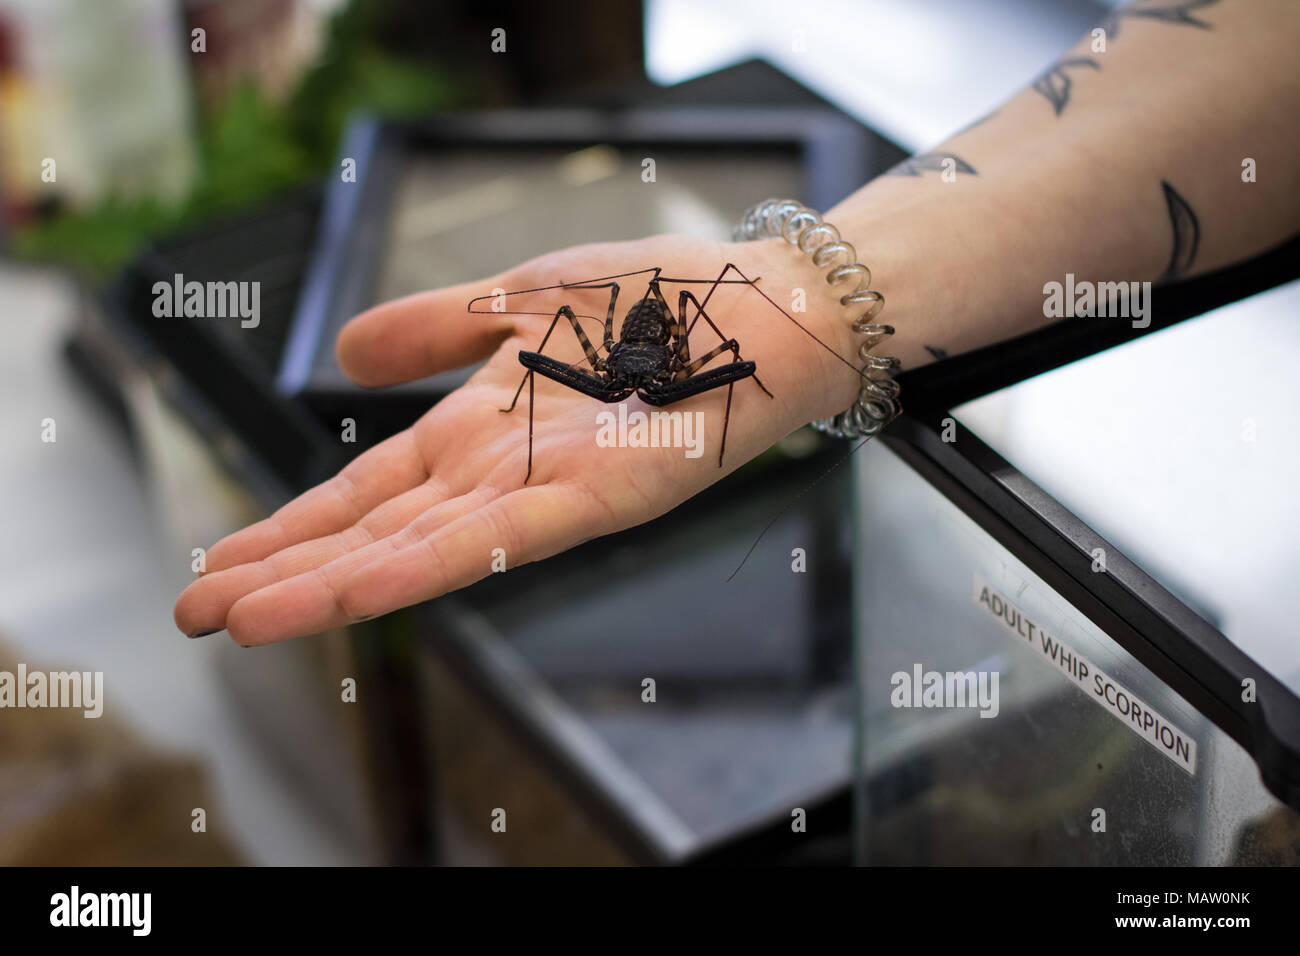
[[[338,336],[338,364],[358,385],[422,378],[485,359],[514,332],[495,312],[468,312],[491,282],[436,289],[385,302],[352,319]]]

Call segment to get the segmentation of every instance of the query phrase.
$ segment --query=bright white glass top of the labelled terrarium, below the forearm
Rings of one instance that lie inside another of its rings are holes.
[[[1297,311],[1292,282],[953,414],[1300,693]]]

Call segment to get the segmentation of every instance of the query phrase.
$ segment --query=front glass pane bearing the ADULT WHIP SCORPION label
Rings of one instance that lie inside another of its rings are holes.
[[[888,447],[857,458],[859,861],[1296,862],[1236,743]]]

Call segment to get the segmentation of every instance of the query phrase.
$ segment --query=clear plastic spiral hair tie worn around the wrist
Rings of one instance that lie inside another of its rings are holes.
[[[889,375],[897,367],[897,359],[871,354],[883,338],[893,334],[893,326],[874,321],[885,307],[885,297],[868,289],[871,269],[857,260],[857,251],[840,238],[840,230],[823,220],[815,209],[793,199],[764,199],[758,206],[751,206],[736,226],[732,238],[736,242],[745,242],[777,235],[811,256],[812,264],[819,269],[831,265],[837,256],[841,256],[840,264],[827,272],[827,285],[833,286],[845,278],[855,277],[857,287],[841,295],[840,304],[870,303],[867,311],[853,320],[853,330],[864,336],[858,346],[858,358],[863,362],[858,401],[833,418],[811,423],[819,432],[836,438],[870,438],[902,411],[898,403],[898,382]]]

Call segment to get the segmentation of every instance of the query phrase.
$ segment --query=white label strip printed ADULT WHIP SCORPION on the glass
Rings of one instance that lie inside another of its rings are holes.
[[[1105,671],[1069,644],[1034,620],[1030,620],[1019,607],[1006,600],[989,584],[975,575],[975,604],[985,613],[997,618],[1019,640],[1040,653],[1080,691],[1098,705],[1114,714],[1134,734],[1174,761],[1188,774],[1196,775],[1196,740],[1152,710],[1144,701],[1130,692],[1123,684],[1108,676]]]

